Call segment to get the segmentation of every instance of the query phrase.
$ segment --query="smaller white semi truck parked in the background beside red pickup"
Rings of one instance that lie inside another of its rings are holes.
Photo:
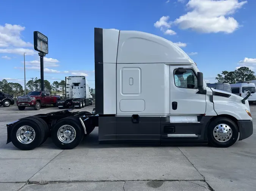
[[[88,81],[85,76],[68,76],[66,82],[66,99],[59,100],[57,105],[59,109],[74,107],[83,108],[87,105],[93,105],[93,96]]]

